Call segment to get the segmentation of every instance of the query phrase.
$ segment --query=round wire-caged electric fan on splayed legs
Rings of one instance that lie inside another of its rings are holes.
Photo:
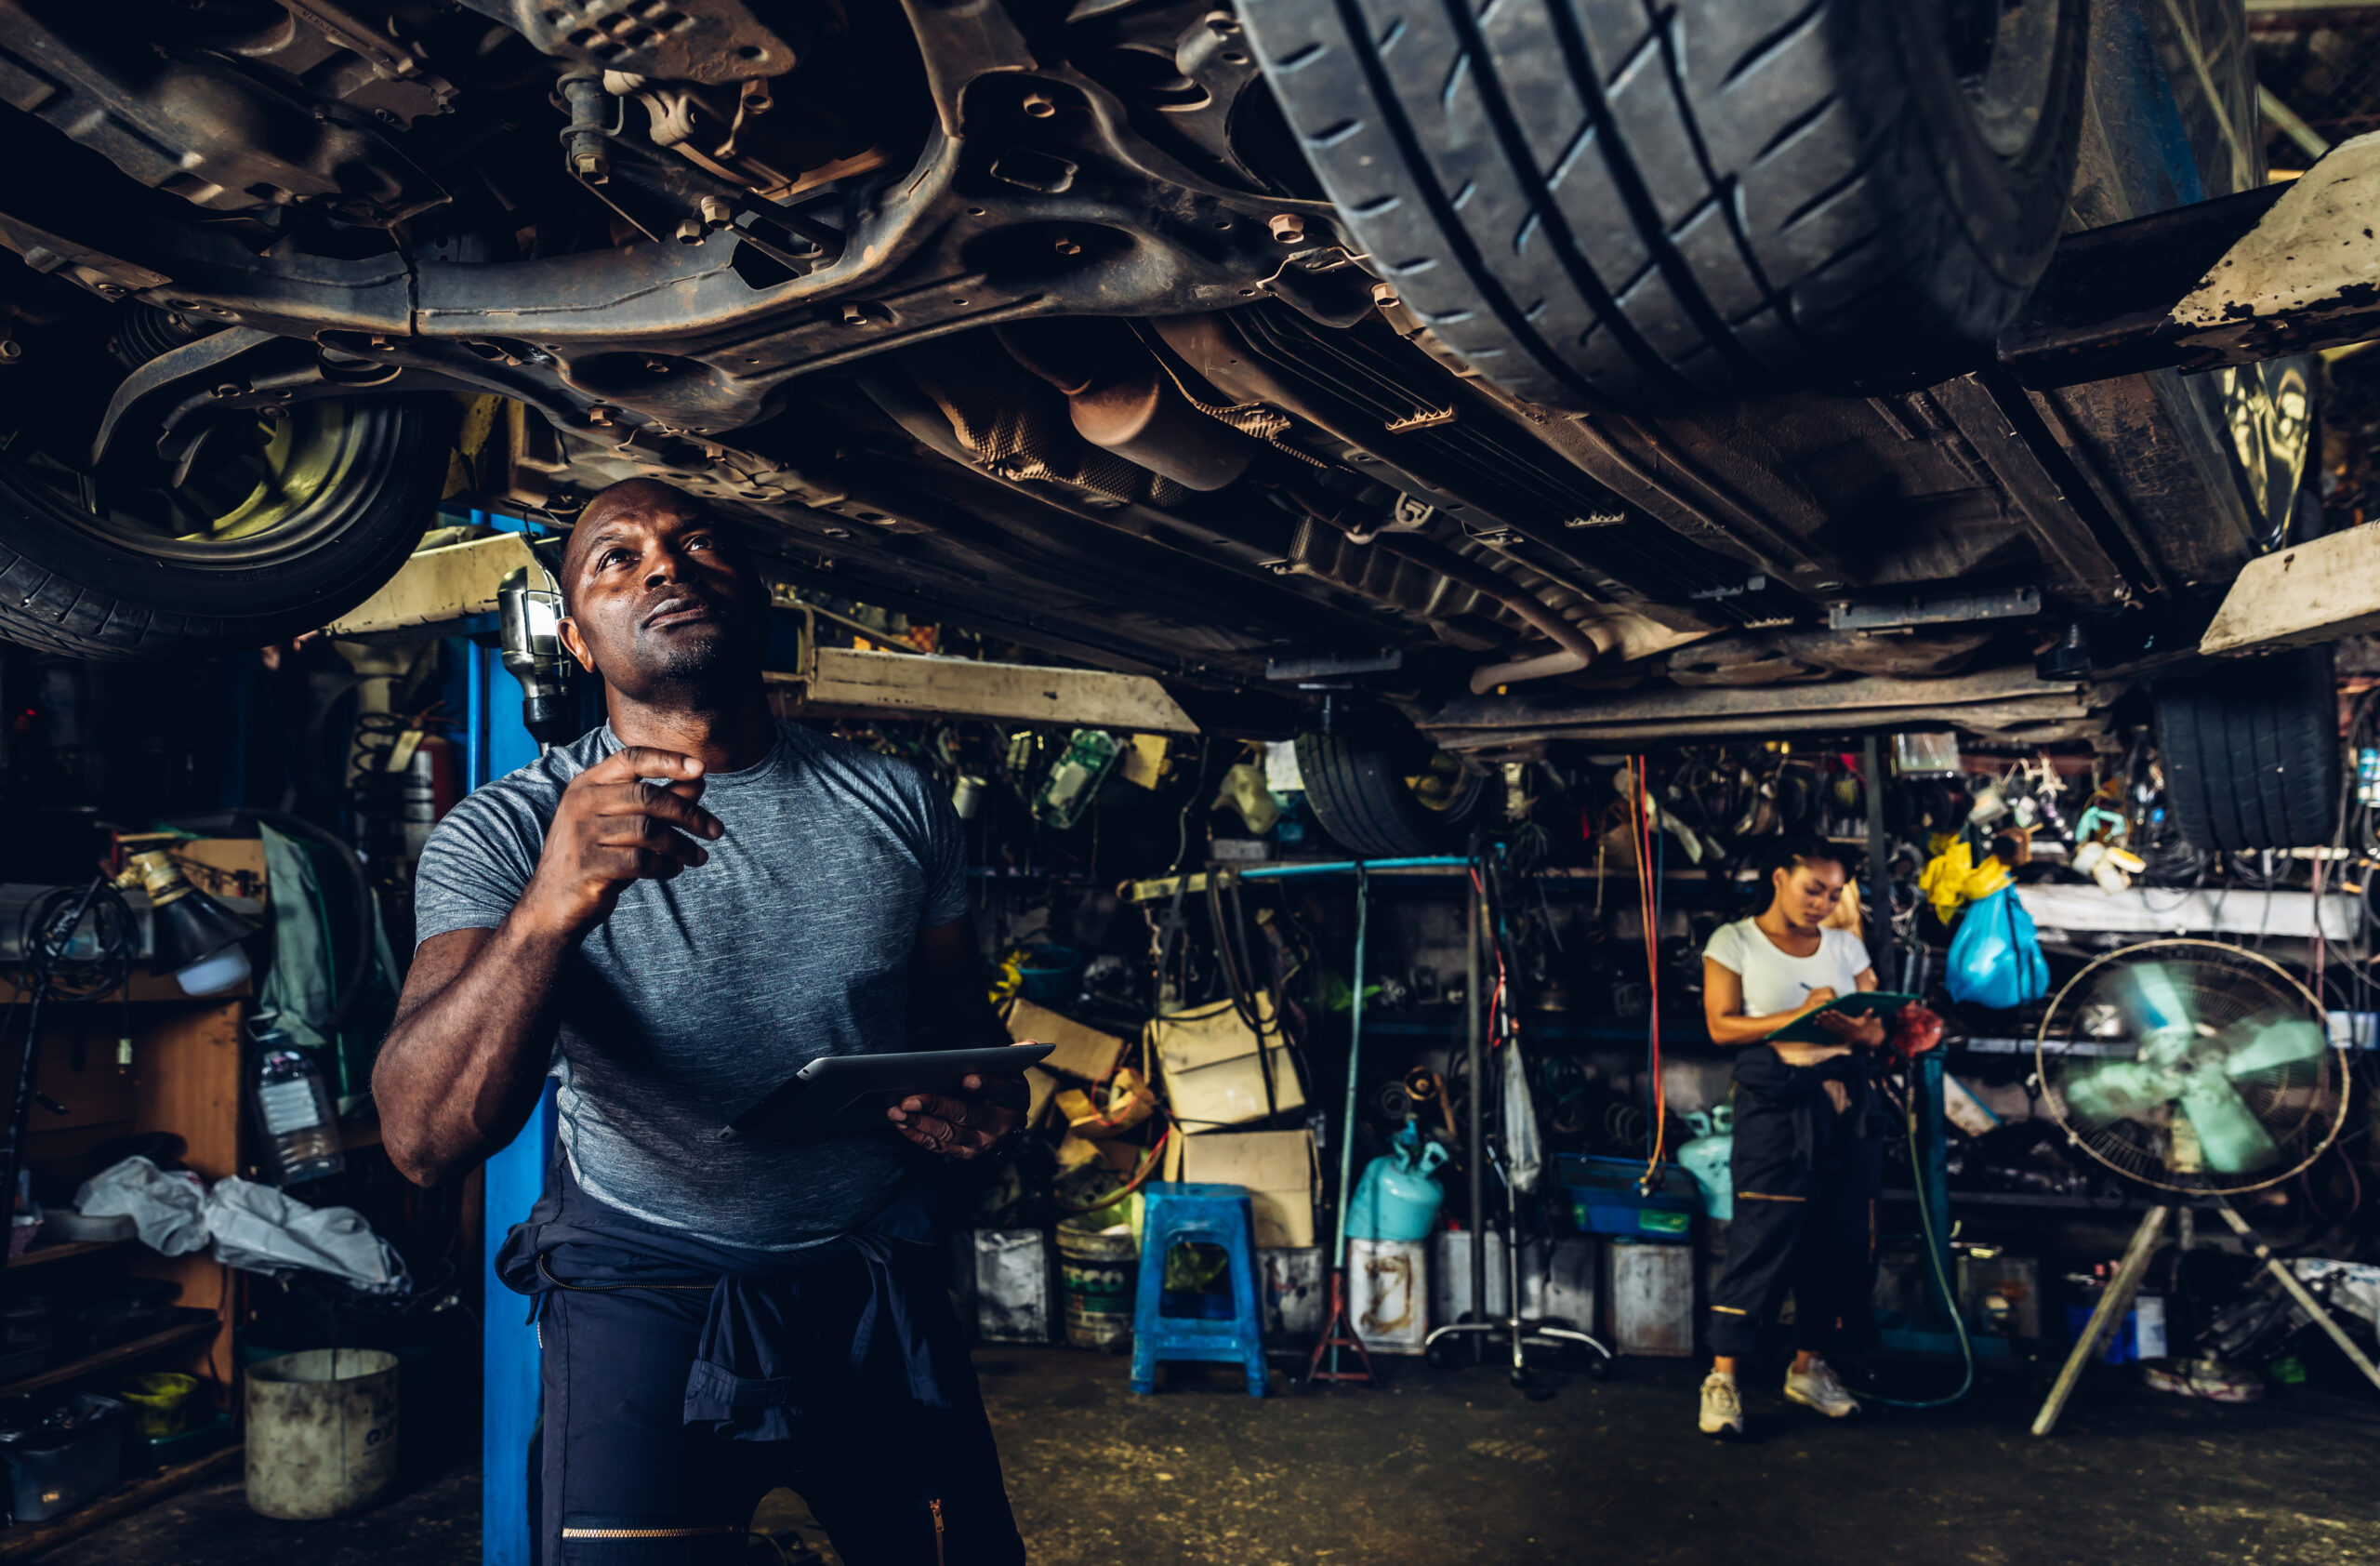
[[[2092,961],[2049,1002],[2033,1059],[2042,1100],[2071,1145],[2125,1180],[2166,1192],[2099,1297],[2082,1340],[2033,1421],[2049,1435],[2082,1366],[2123,1321],[2166,1223],[2211,1204],[2380,1385],[2380,1368],[2340,1330],[2228,1197],[2287,1180],[2323,1157],[2347,1121],[2347,1052],[2323,1007],[2280,964],[2213,940],[2149,940]]]

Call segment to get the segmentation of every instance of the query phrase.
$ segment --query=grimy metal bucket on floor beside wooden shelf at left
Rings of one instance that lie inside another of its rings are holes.
[[[397,1357],[305,1349],[248,1366],[248,1504],[345,1516],[397,1483]]]

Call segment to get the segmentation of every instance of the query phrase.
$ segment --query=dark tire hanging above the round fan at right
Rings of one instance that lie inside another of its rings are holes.
[[[2320,847],[2340,826],[2330,647],[2244,659],[2156,688],[2166,809],[2192,847]]]

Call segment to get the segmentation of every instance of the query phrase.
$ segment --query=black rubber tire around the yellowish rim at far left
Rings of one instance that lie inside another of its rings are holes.
[[[107,662],[207,657],[288,640],[371,597],[431,524],[452,400],[340,397],[290,419],[331,459],[269,528],[221,540],[100,526],[55,469],[0,459],[0,638]]]

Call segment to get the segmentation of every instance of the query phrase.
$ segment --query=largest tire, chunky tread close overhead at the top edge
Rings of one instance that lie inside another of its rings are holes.
[[[2066,217],[2087,0],[2023,0],[1994,43],[1954,40],[1994,14],[1266,0],[1242,19],[1349,238],[1449,350],[1533,402],[1664,412],[1990,359]]]

